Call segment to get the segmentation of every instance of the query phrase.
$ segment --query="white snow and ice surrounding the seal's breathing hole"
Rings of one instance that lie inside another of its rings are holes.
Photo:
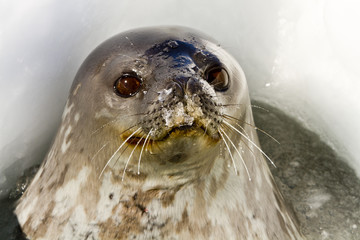
[[[360,176],[359,9],[357,0],[0,0],[0,196],[42,161],[90,51],[153,25],[216,38],[254,99],[303,122]]]

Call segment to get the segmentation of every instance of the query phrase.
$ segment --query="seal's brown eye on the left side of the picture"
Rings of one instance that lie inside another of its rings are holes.
[[[131,97],[140,90],[141,83],[138,77],[123,75],[115,81],[114,90],[120,97]]]

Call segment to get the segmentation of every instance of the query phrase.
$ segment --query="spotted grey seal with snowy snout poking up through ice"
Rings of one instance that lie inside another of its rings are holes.
[[[302,239],[266,158],[245,75],[220,45],[131,30],[80,67],[15,212],[30,239]]]

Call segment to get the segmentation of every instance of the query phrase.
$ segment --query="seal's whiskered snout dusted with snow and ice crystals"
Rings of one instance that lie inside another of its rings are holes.
[[[147,133],[151,131],[150,138],[155,141],[191,134],[218,140],[222,109],[215,102],[216,95],[211,89],[201,78],[177,77],[171,80],[157,92],[140,126]]]

